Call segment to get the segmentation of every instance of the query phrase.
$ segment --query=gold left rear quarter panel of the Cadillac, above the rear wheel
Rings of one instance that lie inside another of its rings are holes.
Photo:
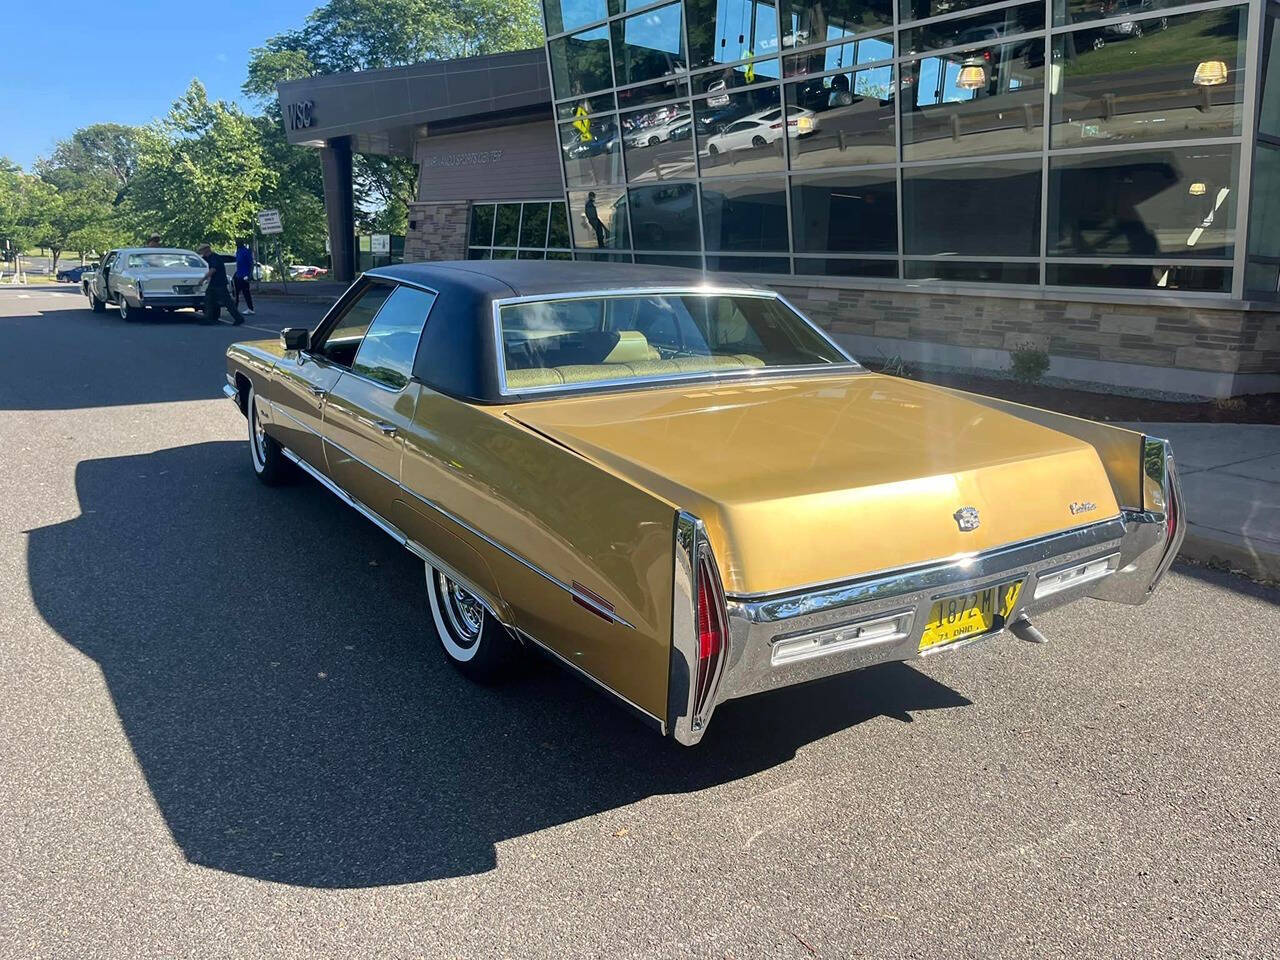
[[[663,718],[675,507],[512,422],[500,407],[424,389],[403,439],[403,485],[462,521],[434,518],[466,544],[463,561],[472,552],[483,558],[476,579],[492,575],[520,630]],[[404,504],[401,522],[411,522],[412,508]],[[575,582],[632,626],[575,603],[564,589]]]

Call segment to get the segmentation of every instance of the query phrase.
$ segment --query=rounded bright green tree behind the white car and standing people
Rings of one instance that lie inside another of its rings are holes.
[[[264,192],[278,183],[259,129],[237,106],[210,101],[200,81],[168,116],[143,128],[125,202],[136,236],[229,247],[251,232]]]

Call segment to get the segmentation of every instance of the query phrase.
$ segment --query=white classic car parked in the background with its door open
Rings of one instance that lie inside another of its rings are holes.
[[[227,257],[223,257],[225,261]],[[81,287],[95,314],[114,303],[122,320],[137,320],[147,310],[201,310],[207,265],[200,253],[179,247],[124,247],[102,257]],[[228,276],[232,270],[228,270]]]

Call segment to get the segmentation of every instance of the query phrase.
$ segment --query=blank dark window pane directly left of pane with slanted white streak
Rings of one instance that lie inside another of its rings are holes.
[[[906,253],[1039,256],[1041,159],[902,170]]]

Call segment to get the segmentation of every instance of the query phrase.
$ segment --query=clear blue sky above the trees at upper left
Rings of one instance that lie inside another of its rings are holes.
[[[44,4],[0,13],[0,156],[29,169],[91,123],[146,123],[198,77],[237,100],[250,47],[300,27],[323,0]]]

